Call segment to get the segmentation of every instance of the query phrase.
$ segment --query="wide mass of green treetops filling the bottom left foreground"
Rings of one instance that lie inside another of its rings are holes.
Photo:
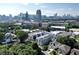
[[[35,42],[0,45],[0,55],[37,55],[41,54]]]

